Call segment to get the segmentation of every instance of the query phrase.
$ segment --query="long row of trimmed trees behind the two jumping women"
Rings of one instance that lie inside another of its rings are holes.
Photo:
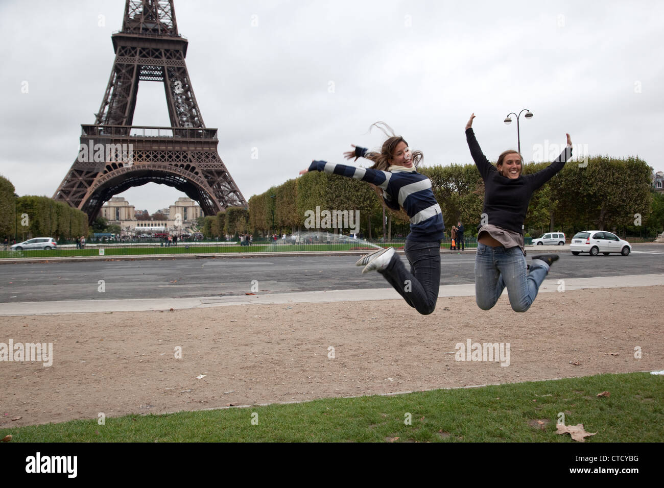
[[[523,173],[535,173],[546,166],[548,163],[529,163]],[[431,179],[448,229],[461,220],[471,234],[481,220],[484,199],[483,181],[475,165],[423,167],[419,171]],[[588,158],[587,164],[569,161],[533,195],[525,231],[540,235],[552,230],[574,233],[597,228],[631,236],[655,235],[664,227],[664,195],[653,191],[651,173],[638,157],[596,156]],[[229,208],[216,217],[207,217],[204,233],[294,233],[305,228],[305,212],[315,212],[317,207],[321,211],[359,210],[360,231],[369,238],[382,235],[383,208],[370,185],[318,172],[305,173],[254,195],[248,212]],[[388,234],[408,234],[404,212],[386,208],[386,215]],[[331,223],[329,232],[339,232]]]

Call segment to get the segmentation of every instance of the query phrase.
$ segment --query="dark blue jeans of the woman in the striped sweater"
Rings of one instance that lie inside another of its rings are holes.
[[[410,263],[410,272],[394,254],[390,264],[380,274],[404,297],[408,305],[422,315],[428,315],[436,309],[440,289],[440,240],[406,240],[404,252]]]

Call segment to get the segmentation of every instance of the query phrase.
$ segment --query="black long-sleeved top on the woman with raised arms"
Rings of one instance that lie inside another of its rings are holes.
[[[565,162],[572,157],[572,147],[565,147],[564,151],[542,171],[532,175],[519,175],[517,179],[509,179],[501,175],[496,167],[489,163],[487,157],[475,139],[473,129],[466,129],[465,138],[468,141],[470,153],[484,180],[484,208],[482,212],[488,215],[484,224],[493,224],[519,234],[523,233],[523,220],[526,218],[528,204],[533,192],[558,171]],[[523,173],[523,165],[521,167]]]

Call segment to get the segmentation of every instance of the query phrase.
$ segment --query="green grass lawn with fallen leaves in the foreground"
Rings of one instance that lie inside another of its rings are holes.
[[[610,397],[596,396],[603,391]],[[568,434],[556,434],[556,422],[564,414],[565,424],[584,424],[586,432],[597,432],[586,438],[589,443],[662,442],[663,399],[664,376],[600,374],[396,396],[134,414],[106,418],[104,425],[96,418],[75,420],[0,429],[0,438],[12,434],[13,442],[575,442]]]

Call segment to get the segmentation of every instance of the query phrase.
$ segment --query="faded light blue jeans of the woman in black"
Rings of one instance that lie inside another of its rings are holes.
[[[533,305],[537,291],[548,274],[548,267],[535,260],[528,272],[526,257],[518,247],[485,246],[477,243],[475,255],[475,301],[489,310],[507,286],[509,304],[515,312],[525,312]]]

